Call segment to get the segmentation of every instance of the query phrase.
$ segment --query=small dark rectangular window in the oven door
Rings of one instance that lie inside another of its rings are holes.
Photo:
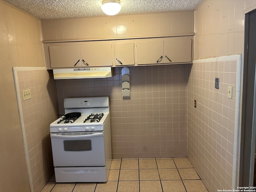
[[[90,151],[92,150],[91,140],[64,140],[65,151]]]

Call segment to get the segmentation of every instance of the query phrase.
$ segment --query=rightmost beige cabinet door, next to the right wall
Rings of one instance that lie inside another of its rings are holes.
[[[164,63],[191,62],[191,47],[191,39],[164,40]]]

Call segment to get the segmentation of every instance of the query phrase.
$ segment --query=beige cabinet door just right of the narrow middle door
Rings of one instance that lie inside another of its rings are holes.
[[[138,65],[163,63],[163,40],[137,42],[136,46]]]

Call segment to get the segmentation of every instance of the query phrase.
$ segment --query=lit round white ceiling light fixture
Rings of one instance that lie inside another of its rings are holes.
[[[107,15],[116,15],[121,10],[120,0],[103,0],[101,9]]]

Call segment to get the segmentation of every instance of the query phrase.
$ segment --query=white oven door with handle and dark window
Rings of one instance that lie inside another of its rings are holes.
[[[104,133],[52,133],[54,166],[105,166]]]

